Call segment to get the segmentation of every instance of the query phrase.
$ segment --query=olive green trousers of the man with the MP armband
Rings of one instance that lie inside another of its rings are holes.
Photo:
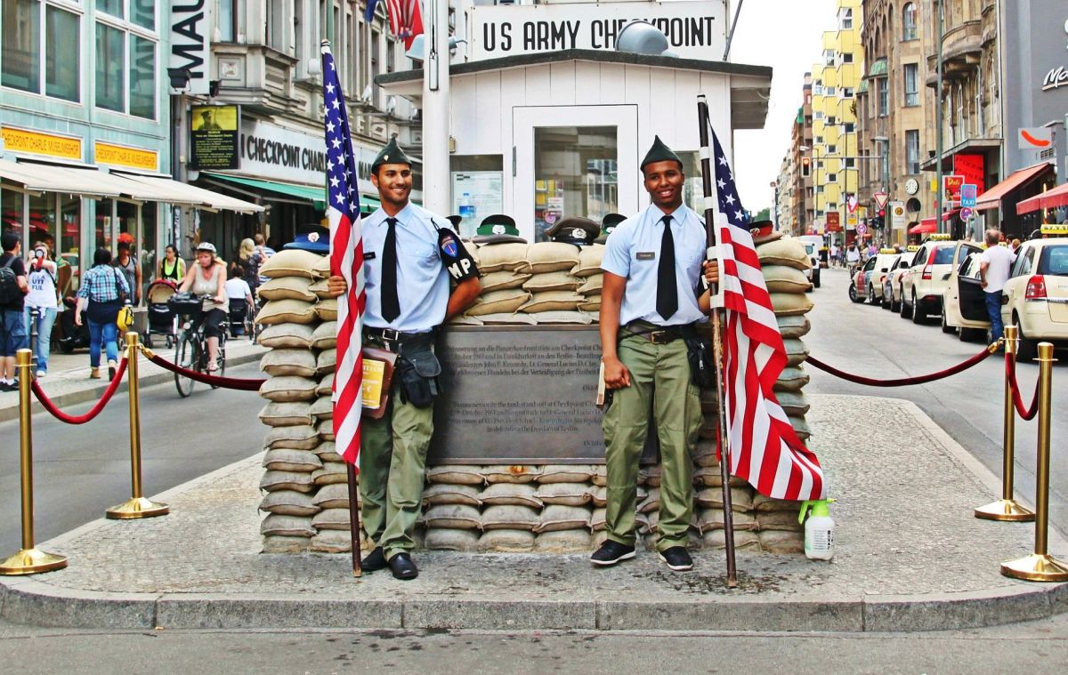
[[[415,547],[412,532],[423,501],[426,451],[434,434],[434,406],[400,402],[394,380],[381,420],[364,418],[360,434],[360,516],[386,560]]]

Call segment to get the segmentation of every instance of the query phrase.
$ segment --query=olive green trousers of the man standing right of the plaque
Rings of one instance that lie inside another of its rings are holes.
[[[660,524],[657,550],[686,546],[693,516],[693,449],[701,428],[701,391],[690,382],[686,343],[654,345],[644,338],[619,342],[619,360],[630,387],[613,392],[604,412],[608,537],[633,546],[638,464],[645,448],[649,413],[660,439]]]

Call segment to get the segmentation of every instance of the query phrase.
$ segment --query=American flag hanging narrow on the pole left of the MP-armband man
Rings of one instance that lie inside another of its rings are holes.
[[[333,381],[333,429],[337,454],[355,465],[360,454],[363,407],[363,232],[356,158],[348,130],[345,95],[330,45],[323,44],[324,128],[327,143],[327,218],[330,220],[330,273],[345,278],[348,291],[337,299],[337,367]]]

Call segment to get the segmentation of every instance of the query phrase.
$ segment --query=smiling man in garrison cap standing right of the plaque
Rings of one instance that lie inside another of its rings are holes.
[[[651,410],[662,464],[657,551],[682,571],[693,567],[686,550],[691,451],[703,417],[688,347],[700,346],[696,324],[709,312],[702,273],[716,282],[719,272],[705,262],[704,222],[682,204],[686,175],[678,156],[657,137],[641,169],[651,203],[615,225],[601,260],[601,362],[612,391],[602,422],[608,538],[590,560],[610,566],[634,556],[638,462]]]

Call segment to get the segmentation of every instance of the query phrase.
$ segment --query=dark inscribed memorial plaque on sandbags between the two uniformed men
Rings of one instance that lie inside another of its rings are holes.
[[[450,327],[429,464],[604,460],[597,326]]]

